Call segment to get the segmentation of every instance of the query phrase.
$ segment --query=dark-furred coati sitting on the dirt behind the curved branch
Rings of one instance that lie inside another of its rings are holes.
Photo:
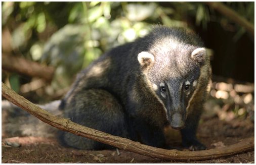
[[[154,147],[164,147],[163,129],[170,125],[181,130],[185,147],[203,150],[196,130],[210,75],[197,35],[158,25],[81,71],[59,110],[80,125]],[[59,138],[79,149],[110,147],[68,132]]]

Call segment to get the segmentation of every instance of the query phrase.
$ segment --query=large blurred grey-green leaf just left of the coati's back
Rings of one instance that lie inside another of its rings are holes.
[[[44,46],[41,61],[47,61],[58,71],[55,80],[62,83],[58,89],[67,87],[74,73],[81,70],[86,32],[82,25],[68,24],[54,33]]]

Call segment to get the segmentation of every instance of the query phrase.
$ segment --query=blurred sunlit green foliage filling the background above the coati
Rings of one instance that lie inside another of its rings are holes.
[[[228,2],[254,22],[254,2]],[[56,68],[52,86],[69,86],[74,75],[111,47],[130,42],[152,24],[207,29],[209,21],[229,20],[201,2],[3,2],[2,28],[12,48],[26,58]],[[244,34],[237,26],[236,39]]]

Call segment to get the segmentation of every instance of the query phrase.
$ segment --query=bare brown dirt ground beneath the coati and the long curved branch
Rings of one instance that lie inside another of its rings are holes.
[[[208,149],[235,144],[254,137],[254,124],[249,118],[236,118],[229,122],[217,116],[203,115],[198,138]],[[181,147],[179,131],[166,129],[167,143]],[[11,146],[10,146],[11,145]],[[15,145],[17,145],[15,147]],[[55,139],[41,137],[2,138],[2,163],[180,163],[143,156],[124,150],[88,151],[65,148]],[[254,163],[254,151],[228,157],[190,163]]]

